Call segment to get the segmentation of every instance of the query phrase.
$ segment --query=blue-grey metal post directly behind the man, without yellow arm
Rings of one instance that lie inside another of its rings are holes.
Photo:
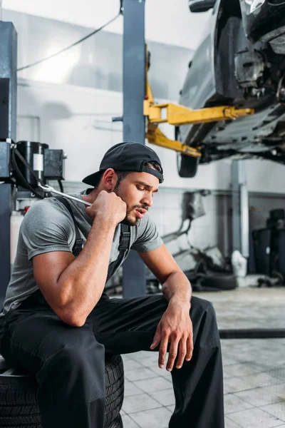
[[[123,138],[145,144],[145,0],[123,0]],[[130,251],[123,265],[123,295],[145,295],[145,265]]]

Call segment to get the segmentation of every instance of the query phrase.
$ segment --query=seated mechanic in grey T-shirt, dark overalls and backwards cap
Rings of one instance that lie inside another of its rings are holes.
[[[78,195],[92,205],[69,201],[85,240],[77,257],[76,228],[61,200],[33,203],[24,217],[0,317],[0,351],[12,367],[36,374],[43,428],[103,428],[105,352],[140,350],[157,350],[159,367],[172,374],[170,428],[224,427],[214,309],[192,297],[147,213],[162,180],[151,148],[111,147],[100,170],[83,180],[93,188]],[[105,294],[107,278],[127,255],[118,250],[122,224],[130,225],[130,248],[160,281],[163,295]]]

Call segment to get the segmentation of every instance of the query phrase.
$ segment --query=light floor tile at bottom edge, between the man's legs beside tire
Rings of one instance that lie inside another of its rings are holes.
[[[160,409],[147,410],[147,412],[133,413],[132,419],[141,428],[163,428],[168,426],[171,414],[166,407],[160,407]]]

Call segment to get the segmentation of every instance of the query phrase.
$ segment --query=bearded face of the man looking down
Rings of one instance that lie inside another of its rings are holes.
[[[114,192],[127,204],[125,221],[134,226],[152,206],[152,198],[158,191],[159,180],[149,173],[129,173]]]

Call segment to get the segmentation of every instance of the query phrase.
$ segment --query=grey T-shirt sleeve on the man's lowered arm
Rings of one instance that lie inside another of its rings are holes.
[[[155,223],[151,220],[148,213],[144,215],[138,225],[138,237],[132,245],[132,250],[138,253],[147,253],[148,251],[156,250],[163,244],[162,239],[158,235]]]

